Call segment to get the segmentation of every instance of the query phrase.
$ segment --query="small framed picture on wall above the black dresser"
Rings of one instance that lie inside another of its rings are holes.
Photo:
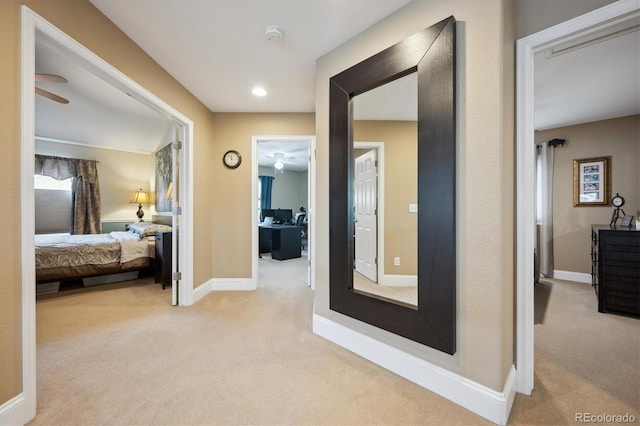
[[[611,157],[573,160],[573,206],[608,206],[611,200]]]

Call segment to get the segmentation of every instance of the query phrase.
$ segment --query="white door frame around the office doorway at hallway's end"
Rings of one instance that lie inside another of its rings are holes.
[[[270,140],[278,141],[307,141],[309,143],[309,206],[307,208],[307,253],[309,266],[307,268],[309,275],[309,286],[315,290],[315,271],[316,271],[316,137],[310,135],[261,135],[251,137],[251,283],[254,289],[258,288],[258,144]]]

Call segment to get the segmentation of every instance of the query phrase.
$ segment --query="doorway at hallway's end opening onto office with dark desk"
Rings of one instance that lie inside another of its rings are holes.
[[[253,287],[286,264],[315,289],[315,136],[252,137],[251,182]]]

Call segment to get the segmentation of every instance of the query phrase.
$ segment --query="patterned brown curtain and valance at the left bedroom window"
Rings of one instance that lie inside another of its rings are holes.
[[[71,234],[99,234],[100,187],[95,160],[80,160],[36,154],[35,174],[63,180],[73,178],[71,185]]]

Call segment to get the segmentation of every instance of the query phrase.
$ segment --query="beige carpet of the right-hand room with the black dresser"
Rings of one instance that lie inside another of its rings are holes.
[[[535,389],[516,395],[510,424],[578,424],[585,413],[640,423],[640,320],[599,313],[589,284],[542,279],[534,333]]]

